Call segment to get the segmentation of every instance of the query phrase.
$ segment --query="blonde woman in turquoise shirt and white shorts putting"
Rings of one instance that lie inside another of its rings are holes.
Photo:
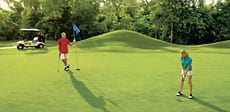
[[[184,87],[185,76],[188,74],[188,84],[190,95],[188,98],[192,99],[192,58],[189,56],[186,50],[181,50],[181,80],[180,80],[180,90],[176,94],[177,96],[182,95],[182,90]]]

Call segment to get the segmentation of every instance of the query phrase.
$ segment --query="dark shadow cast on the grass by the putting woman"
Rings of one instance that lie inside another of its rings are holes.
[[[201,104],[203,106],[206,106],[207,108],[210,108],[210,109],[213,109],[215,110],[216,112],[226,112],[225,110],[221,109],[220,107],[216,106],[216,105],[213,105],[211,103],[208,103],[204,100],[201,100],[197,97],[193,97],[192,99],[194,102],[198,103],[198,104]]]

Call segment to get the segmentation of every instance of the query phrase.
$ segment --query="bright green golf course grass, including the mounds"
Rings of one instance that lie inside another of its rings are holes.
[[[179,46],[116,31],[78,43],[81,71],[74,70],[76,49],[70,47],[72,72],[62,64],[57,72],[57,47],[48,44],[43,50],[0,50],[0,112],[230,111],[227,44]],[[175,96],[182,48],[193,57],[192,100],[187,83],[186,97]]]

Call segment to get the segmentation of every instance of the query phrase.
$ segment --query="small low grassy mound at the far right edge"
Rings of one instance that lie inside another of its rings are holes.
[[[211,48],[230,48],[230,40],[212,43],[212,44],[205,44],[203,47],[211,47]]]

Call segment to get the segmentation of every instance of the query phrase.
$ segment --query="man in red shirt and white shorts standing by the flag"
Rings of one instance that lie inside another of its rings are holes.
[[[72,45],[73,43],[70,43],[69,39],[66,38],[66,33],[61,33],[61,38],[57,41],[58,47],[59,47],[59,56],[62,60],[62,62],[65,65],[64,70],[68,71],[70,68],[70,64],[67,64],[68,59],[68,45]]]

